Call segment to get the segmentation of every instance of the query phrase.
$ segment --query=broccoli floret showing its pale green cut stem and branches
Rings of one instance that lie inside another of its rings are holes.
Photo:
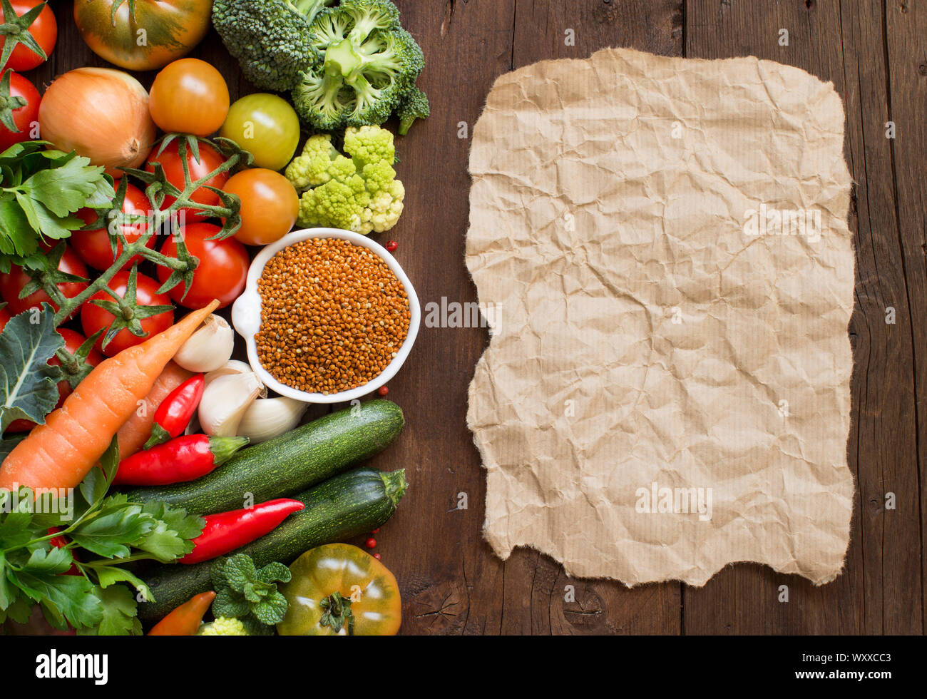
[[[387,121],[425,68],[389,0],[342,0],[319,13],[311,32],[323,59],[302,72],[293,103],[324,131]]]

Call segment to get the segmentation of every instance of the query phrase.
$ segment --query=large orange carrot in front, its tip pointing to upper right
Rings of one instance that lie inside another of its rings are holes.
[[[0,488],[76,488],[138,401],[151,391],[164,366],[218,305],[214,300],[141,345],[100,362],[64,405],[49,413],[44,425],[32,429],[9,452],[0,468]]]

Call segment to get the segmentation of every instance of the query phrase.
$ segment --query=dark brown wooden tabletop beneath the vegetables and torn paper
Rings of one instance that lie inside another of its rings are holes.
[[[54,4],[54,2],[53,2]],[[468,138],[493,81],[545,58],[588,57],[603,46],[667,56],[754,55],[832,81],[844,98],[845,155],[856,186],[857,307],[849,464],[857,500],[844,573],[815,588],[770,568],[736,565],[704,588],[665,583],[629,590],[569,579],[534,551],[502,562],[482,540],[485,477],[465,426],[466,389],[488,342],[479,328],[425,328],[390,398],[408,426],[375,459],[412,484],[377,535],[377,551],[405,599],[404,633],[922,633],[927,542],[927,4],[917,0],[397,0],[425,50],[421,84],[431,119],[399,140],[407,209],[378,236],[423,305],[476,300],[464,268]],[[106,65],[83,44],[70,2],[37,83]],[[788,45],[781,45],[781,30]],[[573,30],[575,44],[565,41]],[[193,56],[253,92],[214,33]],[[150,84],[153,75],[140,78]],[[886,122],[895,138],[886,138]],[[894,311],[892,311],[894,309]],[[891,320],[894,312],[894,323]],[[894,493],[895,509],[886,509]],[[461,494],[468,507],[458,509]],[[565,602],[574,585],[575,602]],[[787,585],[789,602],[778,602]]]

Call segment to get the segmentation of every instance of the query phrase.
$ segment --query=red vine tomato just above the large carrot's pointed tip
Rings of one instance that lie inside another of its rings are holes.
[[[124,297],[128,284],[129,273],[120,272],[110,280],[109,288],[115,291],[119,296]],[[171,305],[171,299],[169,299],[167,295],[158,293],[160,285],[151,277],[139,274],[135,286],[135,300],[138,302],[139,306]],[[103,337],[106,335],[106,329],[109,327],[109,324],[113,322],[114,316],[109,311],[101,309],[95,303],[91,303],[91,301],[95,299],[102,301],[114,300],[106,291],[97,291],[90,299],[87,299],[87,302],[84,303],[83,306],[81,306],[81,325],[87,337],[93,335],[101,327],[104,328],[103,335],[96,340],[95,348],[108,357],[119,354],[123,349],[142,344],[149,337],[158,335],[158,333],[167,330],[173,324],[173,311],[164,311],[163,313],[153,315],[141,321],[142,329],[147,333],[146,337],[135,337],[128,330],[123,329],[116,334],[116,337],[109,340],[109,344],[106,348],[103,348]]]

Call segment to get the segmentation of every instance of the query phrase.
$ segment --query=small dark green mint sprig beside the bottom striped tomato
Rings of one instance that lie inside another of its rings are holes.
[[[216,591],[212,614],[239,619],[248,634],[270,635],[273,625],[286,616],[286,597],[277,591],[278,582],[289,582],[289,568],[272,563],[260,568],[246,553],[216,561],[211,568]]]

